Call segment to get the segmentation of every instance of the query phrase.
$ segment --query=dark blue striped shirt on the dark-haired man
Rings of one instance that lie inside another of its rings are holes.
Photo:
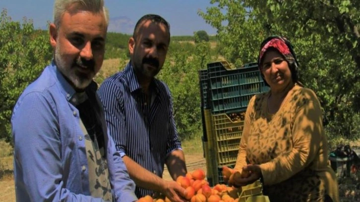
[[[127,155],[159,177],[169,153],[181,149],[173,116],[169,88],[153,79],[152,101],[146,99],[131,62],[106,79],[98,90],[105,117],[121,156]],[[136,186],[137,197],[153,196],[154,191]]]

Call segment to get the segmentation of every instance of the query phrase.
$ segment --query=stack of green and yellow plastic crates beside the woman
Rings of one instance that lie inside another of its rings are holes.
[[[233,68],[227,61],[199,71],[203,149],[211,186],[223,183],[222,166],[234,167],[250,99],[267,92],[257,63]]]

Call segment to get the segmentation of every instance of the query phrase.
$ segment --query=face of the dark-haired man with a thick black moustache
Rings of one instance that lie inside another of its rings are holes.
[[[142,78],[154,78],[164,65],[169,47],[169,33],[162,23],[144,21],[130,38],[129,52],[136,74]]]

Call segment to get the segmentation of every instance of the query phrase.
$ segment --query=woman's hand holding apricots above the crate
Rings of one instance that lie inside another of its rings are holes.
[[[235,172],[230,176],[229,186],[240,188],[254,183],[260,179],[261,169],[259,165],[248,164],[242,168],[242,173]]]

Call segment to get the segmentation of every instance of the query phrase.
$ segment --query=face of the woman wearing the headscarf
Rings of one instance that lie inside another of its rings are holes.
[[[288,62],[277,50],[265,52],[261,72],[272,90],[284,89],[293,82]]]

